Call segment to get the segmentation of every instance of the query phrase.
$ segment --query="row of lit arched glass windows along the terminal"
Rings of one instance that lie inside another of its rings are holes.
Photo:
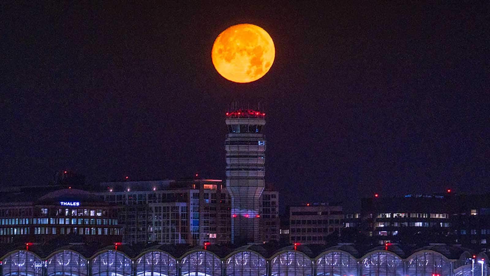
[[[12,251],[1,258],[1,276],[452,276],[455,260],[424,250],[406,259],[384,250],[357,259],[341,250],[323,252],[312,259],[300,251],[281,251],[264,258],[250,250],[220,258],[194,250],[180,258],[152,250],[130,258],[121,251],[105,250],[85,258],[60,250],[42,259],[33,252]],[[466,275],[466,274],[460,274]]]

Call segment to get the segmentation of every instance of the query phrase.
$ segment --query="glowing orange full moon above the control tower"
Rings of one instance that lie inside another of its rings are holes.
[[[274,57],[274,42],[269,33],[252,24],[225,29],[211,50],[218,73],[235,83],[250,83],[262,78],[272,66]]]

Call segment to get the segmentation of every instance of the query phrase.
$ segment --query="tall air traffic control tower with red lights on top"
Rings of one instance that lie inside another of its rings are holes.
[[[235,109],[226,113],[226,189],[231,196],[231,242],[259,241],[259,197],[264,191],[265,113]]]

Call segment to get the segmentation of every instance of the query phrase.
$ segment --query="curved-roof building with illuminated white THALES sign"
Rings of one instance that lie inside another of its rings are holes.
[[[16,193],[18,196],[21,194]],[[122,240],[119,208],[92,193],[54,191],[40,198],[0,203],[0,243],[114,243]]]

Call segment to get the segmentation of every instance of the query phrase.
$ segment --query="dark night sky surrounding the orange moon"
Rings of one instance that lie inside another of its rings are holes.
[[[0,4],[2,186],[224,178],[240,100],[267,104],[283,204],[489,188],[489,2],[38,2]],[[239,23],[276,47],[253,83],[211,62]]]

